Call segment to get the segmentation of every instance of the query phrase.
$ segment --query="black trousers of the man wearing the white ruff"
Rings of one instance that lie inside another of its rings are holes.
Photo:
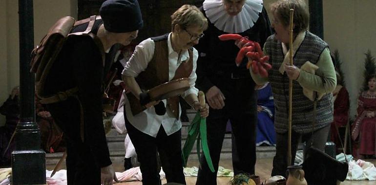
[[[211,172],[205,157],[200,159],[196,185],[216,185],[222,144],[228,120],[232,128],[232,166],[234,174],[254,174],[256,164],[256,100],[252,79],[233,79],[225,87],[219,87],[225,94],[225,107],[209,110],[207,117],[207,138],[210,157],[215,172]]]

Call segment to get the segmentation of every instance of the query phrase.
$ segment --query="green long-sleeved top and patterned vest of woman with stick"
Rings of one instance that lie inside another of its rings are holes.
[[[328,45],[308,31],[297,35],[292,52],[293,63],[300,69],[292,86],[292,129],[298,133],[308,133],[326,127],[333,121],[330,101],[333,97],[331,92],[336,86],[334,65]],[[269,77],[263,78],[250,70],[251,76],[259,85],[271,82],[275,105],[274,126],[276,132],[283,133],[287,131],[289,112],[289,78],[284,72],[284,66],[290,63],[290,54],[288,47],[274,36],[267,39],[264,53],[270,56],[269,63],[272,65]],[[319,97],[316,111],[313,104],[313,95],[316,93],[313,92],[317,92]]]

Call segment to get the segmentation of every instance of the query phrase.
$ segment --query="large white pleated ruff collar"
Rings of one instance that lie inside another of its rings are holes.
[[[251,27],[262,11],[262,0],[246,0],[242,11],[236,16],[230,16],[223,0],[205,0],[203,3],[205,14],[216,28],[227,33],[242,33]]]

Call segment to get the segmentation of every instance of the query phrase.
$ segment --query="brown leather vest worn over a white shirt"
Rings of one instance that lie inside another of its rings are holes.
[[[156,87],[169,81],[167,37],[168,34],[151,38],[154,40],[155,43],[154,56],[148,63],[146,70],[141,72],[136,77],[136,81],[140,86],[141,90],[143,91],[147,91],[153,87]],[[172,78],[172,80],[184,77],[188,78],[189,75],[192,73],[193,52],[191,49],[188,49],[188,54],[188,61],[184,61],[180,64],[180,66],[175,71],[175,75]],[[133,93],[127,93],[126,96],[129,100],[130,109],[133,115],[136,115],[146,110],[144,106],[141,106],[139,99],[137,99]],[[176,119],[179,119],[179,97],[174,96],[167,98],[167,106],[169,110],[171,110],[174,114],[174,117],[176,117]]]

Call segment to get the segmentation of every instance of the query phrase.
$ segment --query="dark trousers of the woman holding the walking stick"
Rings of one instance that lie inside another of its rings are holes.
[[[291,154],[292,164],[295,161],[296,149],[298,147],[299,142],[306,142],[306,147],[304,148],[304,154],[313,146],[321,151],[325,149],[325,143],[328,139],[328,133],[330,129],[330,124],[322,129],[318,129],[316,131],[300,134],[292,130],[291,134]],[[288,132],[285,133],[276,133],[276,152],[273,158],[273,169],[272,169],[272,176],[281,175],[284,177],[286,176],[287,166],[291,164],[287,164],[287,149],[288,149]]]

